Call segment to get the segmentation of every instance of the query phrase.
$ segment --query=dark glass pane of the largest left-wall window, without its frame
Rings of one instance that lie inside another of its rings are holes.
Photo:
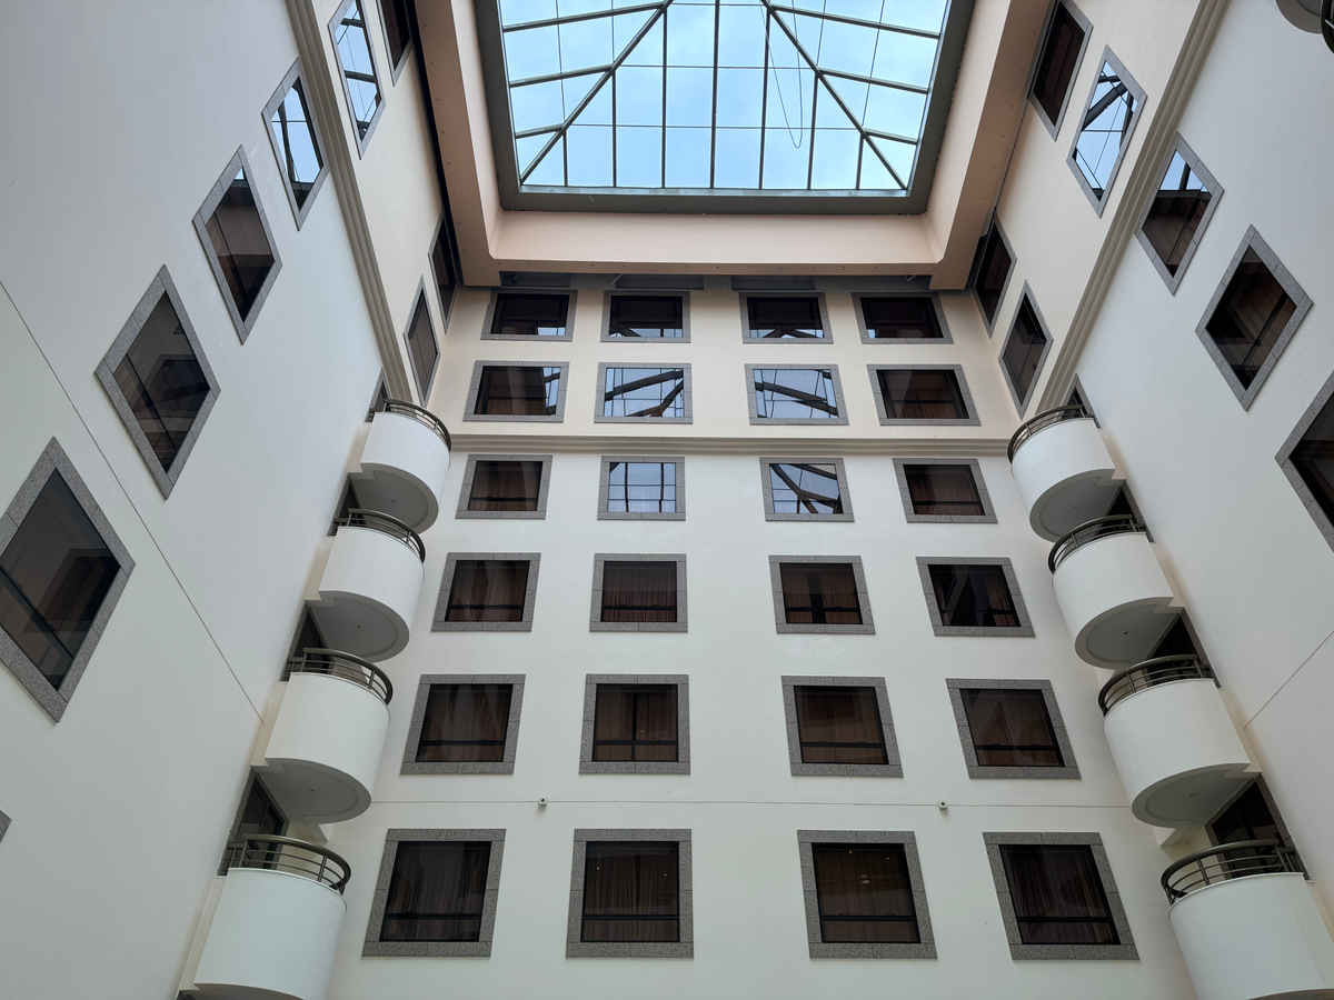
[[[59,688],[120,564],[59,472],[0,552],[0,627]]]

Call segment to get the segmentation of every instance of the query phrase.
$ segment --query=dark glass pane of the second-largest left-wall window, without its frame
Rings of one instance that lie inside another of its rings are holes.
[[[116,365],[116,385],[169,469],[208,396],[208,379],[165,293]]]

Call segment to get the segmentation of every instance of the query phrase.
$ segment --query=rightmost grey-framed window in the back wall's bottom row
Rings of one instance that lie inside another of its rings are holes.
[[[1011,959],[1139,960],[1101,835],[983,833],[982,840],[987,845],[987,860],[991,863],[991,879],[995,881]],[[1025,873],[1039,892],[1046,888],[1046,899],[1057,903],[1057,907],[1033,905],[1034,901],[1026,899],[1025,891],[1011,884],[1005,860],[1006,848],[1019,848],[1010,859],[1011,865],[1023,852],[1031,855],[1050,849],[1046,865],[1042,859],[1025,859]],[[1065,881],[1071,884],[1061,884]],[[1081,900],[1079,895],[1086,899]],[[1090,916],[1094,919],[1089,920]],[[1067,917],[1074,920],[1066,920]],[[1047,940],[1041,940],[1043,937]],[[1063,940],[1070,937],[1085,940]],[[1099,937],[1107,941],[1094,943]]]

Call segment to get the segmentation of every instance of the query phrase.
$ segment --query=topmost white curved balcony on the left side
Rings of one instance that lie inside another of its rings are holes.
[[[358,499],[426,531],[440,515],[450,471],[450,431],[428,409],[391,399],[378,411],[354,471]]]

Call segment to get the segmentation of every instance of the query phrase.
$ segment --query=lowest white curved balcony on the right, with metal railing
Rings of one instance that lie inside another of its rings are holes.
[[[1219,844],[1173,864],[1162,887],[1199,1000],[1334,997],[1334,943],[1290,847]]]

